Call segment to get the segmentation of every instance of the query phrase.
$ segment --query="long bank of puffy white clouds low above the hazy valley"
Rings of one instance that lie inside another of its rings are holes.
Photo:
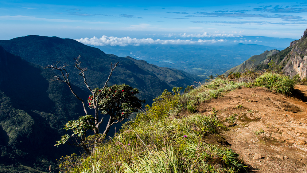
[[[94,46],[104,46],[104,45],[111,45],[111,46],[127,46],[127,45],[150,45],[150,44],[161,44],[161,45],[202,45],[202,44],[212,44],[212,43],[218,43],[218,42],[225,42],[227,40],[220,39],[220,40],[197,40],[192,41],[191,40],[180,40],[180,39],[172,39],[172,40],[153,40],[152,38],[130,38],[130,37],[107,37],[102,36],[101,38],[93,37],[93,38],[80,38],[76,39],[76,41],[79,41],[80,43],[83,43],[85,45],[94,45]]]

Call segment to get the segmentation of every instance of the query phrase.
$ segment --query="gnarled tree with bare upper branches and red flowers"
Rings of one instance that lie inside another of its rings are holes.
[[[94,88],[92,89],[86,81],[85,72],[87,68],[81,67],[80,55],[75,59],[74,67],[78,69],[79,75],[83,77],[84,84],[87,89],[92,93],[88,99],[88,107],[95,110],[95,116],[88,115],[87,105],[85,101],[77,96],[71,87],[69,81],[69,73],[66,71],[68,65],[64,64],[61,67],[58,67],[60,62],[56,62],[53,65],[48,65],[45,68],[51,68],[52,70],[59,70],[63,80],[60,77],[55,76],[56,80],[65,82],[72,94],[82,102],[85,116],[80,116],[77,120],[68,121],[64,126],[64,129],[71,130],[72,135],[64,135],[59,141],[56,141],[56,146],[60,144],[69,144],[83,147],[84,150],[91,154],[91,149],[87,145],[87,134],[94,132],[94,146],[101,142],[110,130],[110,127],[113,124],[117,124],[123,121],[129,116],[132,112],[137,112],[139,108],[142,108],[142,104],[145,103],[145,100],[138,99],[135,94],[138,94],[137,88],[132,88],[128,85],[113,85],[111,87],[107,86],[108,81],[112,75],[113,70],[119,65],[117,63],[111,63],[111,72],[103,86],[103,88]],[[54,80],[54,81],[56,81]],[[107,126],[104,129],[102,135],[99,135],[100,125],[104,122],[104,118],[109,115],[110,118],[107,122]],[[71,139],[71,140],[70,140]]]

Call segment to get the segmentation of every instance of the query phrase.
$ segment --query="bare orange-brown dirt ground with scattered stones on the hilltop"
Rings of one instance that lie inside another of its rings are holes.
[[[198,105],[228,130],[208,142],[228,145],[247,164],[248,172],[307,172],[307,86],[293,96],[266,88],[242,88]],[[217,138],[221,140],[216,140]]]

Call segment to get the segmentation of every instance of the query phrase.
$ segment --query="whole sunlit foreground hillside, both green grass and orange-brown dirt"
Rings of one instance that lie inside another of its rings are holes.
[[[74,167],[67,157],[60,168],[306,172],[307,87],[278,73],[248,75],[256,76],[216,78],[185,94],[163,92],[92,155],[79,157]]]

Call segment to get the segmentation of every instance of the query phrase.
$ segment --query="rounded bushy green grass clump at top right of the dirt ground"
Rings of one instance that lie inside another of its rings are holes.
[[[258,77],[254,85],[272,89],[284,95],[291,95],[294,90],[294,81],[290,77],[271,72]]]

